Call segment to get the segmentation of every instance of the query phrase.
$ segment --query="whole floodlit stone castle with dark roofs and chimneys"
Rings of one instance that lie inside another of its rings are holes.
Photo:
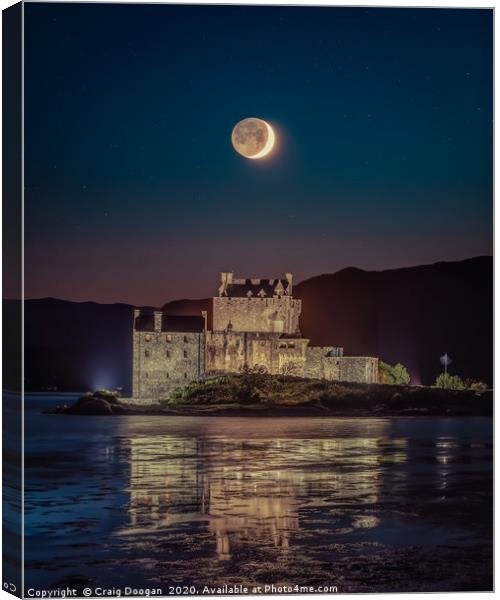
[[[134,311],[132,394],[158,402],[174,388],[215,373],[261,368],[334,381],[374,383],[378,359],[344,356],[343,348],[310,346],[299,329],[301,300],[292,274],[240,279],[221,273],[210,315],[169,316]],[[210,317],[210,323],[209,323]]]

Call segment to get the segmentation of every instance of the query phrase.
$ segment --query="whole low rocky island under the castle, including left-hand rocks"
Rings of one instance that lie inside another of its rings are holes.
[[[66,415],[262,417],[491,416],[490,390],[364,384],[266,373],[224,374],[192,382],[156,404],[116,392],[88,393],[46,411]]]

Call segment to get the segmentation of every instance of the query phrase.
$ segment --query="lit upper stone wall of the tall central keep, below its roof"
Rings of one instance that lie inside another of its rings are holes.
[[[299,329],[301,301],[281,298],[213,298],[213,330],[293,334]]]

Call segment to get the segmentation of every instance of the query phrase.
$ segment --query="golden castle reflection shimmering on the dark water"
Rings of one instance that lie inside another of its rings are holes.
[[[128,523],[119,536],[204,528],[220,560],[235,548],[287,551],[304,507],[355,502],[367,508],[350,524],[377,527],[369,514],[384,485],[387,463],[407,459],[405,439],[235,439],[221,435],[120,437],[129,454]],[[117,448],[115,448],[117,449]]]

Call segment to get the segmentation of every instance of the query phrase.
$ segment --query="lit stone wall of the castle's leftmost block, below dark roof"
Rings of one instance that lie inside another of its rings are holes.
[[[205,372],[203,333],[134,331],[132,393],[158,401]]]

